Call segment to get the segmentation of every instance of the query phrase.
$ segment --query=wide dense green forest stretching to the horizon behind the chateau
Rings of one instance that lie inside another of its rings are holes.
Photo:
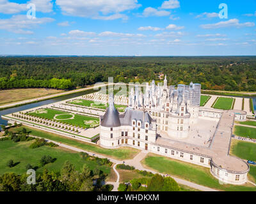
[[[256,91],[256,57],[0,57],[0,89],[75,89],[96,82],[202,84],[202,89]]]

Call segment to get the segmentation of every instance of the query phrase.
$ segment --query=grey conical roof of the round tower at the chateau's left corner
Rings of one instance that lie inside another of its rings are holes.
[[[119,113],[116,110],[114,105],[113,95],[109,96],[109,107],[107,112],[103,116],[100,126],[108,127],[108,128],[115,128],[115,127],[121,126]]]

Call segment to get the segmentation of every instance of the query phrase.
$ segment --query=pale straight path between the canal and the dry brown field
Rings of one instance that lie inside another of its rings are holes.
[[[106,85],[111,85],[111,84],[113,84],[113,83],[109,83],[109,84],[106,84]],[[65,92],[61,92],[61,93],[58,93],[58,94],[51,94],[49,96],[42,96],[42,97],[39,97],[39,98],[27,99],[27,100],[24,100],[24,101],[14,102],[14,103],[6,104],[6,105],[1,105],[0,109],[1,108],[11,108],[13,106],[18,106],[18,105],[25,105],[25,104],[33,103],[33,102],[36,102],[36,101],[44,101],[44,100],[47,100],[47,99],[56,98],[58,96],[74,94],[76,92],[87,91],[87,90],[93,89],[94,87],[96,88],[96,87],[102,87],[102,86],[103,85],[96,85],[96,86],[86,87],[86,88],[82,88],[82,89],[76,89],[76,90],[72,90],[72,91],[65,91]]]

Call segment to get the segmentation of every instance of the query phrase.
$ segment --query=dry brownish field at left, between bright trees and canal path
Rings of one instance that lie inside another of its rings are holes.
[[[63,92],[56,89],[11,89],[0,91],[0,105]]]

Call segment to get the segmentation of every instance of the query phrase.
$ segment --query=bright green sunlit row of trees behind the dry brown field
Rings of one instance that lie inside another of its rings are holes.
[[[0,78],[0,89],[12,89],[12,88],[28,88],[28,87],[42,87],[42,88],[52,88],[52,89],[72,89],[74,85],[70,79],[58,79],[52,78],[50,80],[35,80],[33,78],[29,79],[19,79],[17,77],[2,77]]]

